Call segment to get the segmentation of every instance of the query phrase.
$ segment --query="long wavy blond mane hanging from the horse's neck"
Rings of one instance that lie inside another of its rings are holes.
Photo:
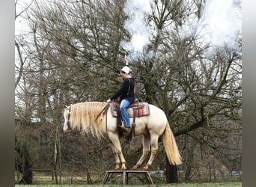
[[[70,123],[73,129],[91,132],[94,137],[102,136],[106,127],[103,125],[103,108],[106,102],[79,102],[71,105]]]

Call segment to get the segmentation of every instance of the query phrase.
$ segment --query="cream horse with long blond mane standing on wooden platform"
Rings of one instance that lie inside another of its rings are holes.
[[[110,110],[105,112],[106,105],[108,105],[106,102],[78,102],[70,106],[66,105],[63,131],[72,132],[76,129],[91,133],[96,138],[108,139],[115,156],[115,170],[127,170],[126,160],[119,141],[117,119],[112,116]],[[137,170],[143,164],[151,147],[150,158],[143,169],[147,171],[150,168],[158,150],[158,138],[160,136],[162,136],[169,163],[171,165],[182,164],[174,135],[164,111],[151,104],[149,104],[149,108],[150,115],[136,117],[134,135],[143,135],[143,153],[132,170]]]

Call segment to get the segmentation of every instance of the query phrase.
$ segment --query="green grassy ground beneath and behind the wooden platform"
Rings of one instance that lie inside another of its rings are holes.
[[[21,177],[19,177],[20,179]],[[70,187],[70,186],[76,186],[76,187],[82,187],[82,186],[88,186],[88,187],[119,187],[123,186],[123,175],[121,174],[115,174],[112,177],[109,178],[107,183],[105,185],[100,185],[103,180],[103,175],[94,175],[94,177],[91,176],[93,179],[91,182],[92,185],[88,185],[88,181],[85,178],[85,174],[81,174],[80,177],[78,177],[78,174],[74,174],[71,176],[70,174],[64,174],[63,177],[61,177],[61,184],[56,185],[56,181],[53,180],[51,175],[46,175],[43,173],[34,173],[33,177],[33,185],[15,185],[16,187]],[[151,178],[153,180],[154,185],[151,186],[159,186],[159,187],[241,187],[242,182],[240,177],[229,177],[227,179],[220,178],[219,180],[216,179],[216,183],[204,183],[206,181],[204,180],[198,180],[200,182],[197,183],[176,183],[176,184],[165,184],[165,177],[161,177],[159,175],[151,175]],[[17,183],[19,181],[17,176],[15,176],[15,182]],[[181,180],[182,181],[182,180]],[[232,182],[231,182],[232,181]],[[58,178],[58,183],[60,182],[60,178]],[[148,181],[146,180],[146,177],[144,174],[130,174],[129,175],[129,181],[127,178],[127,182],[129,185],[126,186],[137,186],[137,187],[144,187],[144,186],[150,186],[148,185]]]

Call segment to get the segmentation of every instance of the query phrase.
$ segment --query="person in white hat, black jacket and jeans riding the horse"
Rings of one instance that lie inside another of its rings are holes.
[[[124,120],[124,129],[127,131],[130,128],[127,108],[135,100],[135,93],[134,93],[135,83],[134,83],[134,78],[130,75],[131,70],[127,65],[128,61],[126,59],[124,60],[124,64],[126,64],[126,66],[123,67],[120,72],[120,76],[122,77],[124,82],[121,85],[120,90],[117,93],[115,93],[115,95],[112,96],[110,99],[108,99],[107,102],[111,102],[113,99],[118,99],[118,97],[120,97],[121,117]]]

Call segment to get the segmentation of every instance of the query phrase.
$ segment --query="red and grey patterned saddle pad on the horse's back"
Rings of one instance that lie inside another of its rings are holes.
[[[147,102],[140,102],[139,105],[144,105],[144,106],[139,108],[136,106],[133,106],[132,108],[127,108],[129,118],[132,118],[134,114],[135,114],[135,117],[147,116],[150,114],[150,108]],[[114,110],[114,107],[112,105],[110,105],[110,111],[113,117],[117,117],[117,111]]]

